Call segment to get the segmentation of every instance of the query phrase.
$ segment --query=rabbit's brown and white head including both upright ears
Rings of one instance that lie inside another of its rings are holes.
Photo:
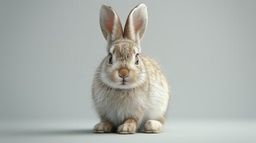
[[[100,78],[112,88],[130,89],[147,81],[140,57],[140,40],[147,27],[147,8],[140,4],[129,13],[124,32],[118,14],[109,5],[100,10],[100,27],[107,41],[107,57],[101,63]]]

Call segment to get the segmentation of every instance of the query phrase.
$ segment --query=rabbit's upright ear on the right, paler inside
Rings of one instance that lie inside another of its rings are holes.
[[[125,23],[124,38],[140,43],[147,28],[147,7],[139,4],[129,13]]]

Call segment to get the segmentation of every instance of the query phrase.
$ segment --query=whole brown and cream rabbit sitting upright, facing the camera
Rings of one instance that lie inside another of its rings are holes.
[[[123,32],[118,14],[103,4],[100,27],[107,56],[92,83],[92,100],[101,118],[94,133],[162,132],[169,86],[158,64],[140,54],[147,27],[146,5],[139,4],[129,13]]]

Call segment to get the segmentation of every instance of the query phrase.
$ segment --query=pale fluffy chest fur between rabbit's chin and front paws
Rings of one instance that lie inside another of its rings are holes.
[[[112,88],[104,91],[104,94],[94,93],[95,99],[98,99],[95,105],[100,116],[115,125],[120,125],[127,118],[143,117],[150,102],[143,91]]]

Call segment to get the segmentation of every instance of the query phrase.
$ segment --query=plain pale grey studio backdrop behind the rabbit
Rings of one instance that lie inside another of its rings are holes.
[[[122,26],[147,5],[142,54],[171,86],[173,119],[255,120],[255,1],[0,1],[0,120],[99,122],[93,74],[107,55],[99,12]]]

